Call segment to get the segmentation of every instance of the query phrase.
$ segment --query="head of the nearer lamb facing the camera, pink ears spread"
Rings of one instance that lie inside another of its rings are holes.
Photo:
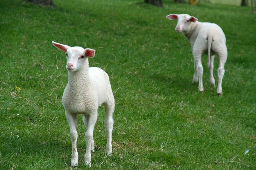
[[[52,41],[52,44],[66,53],[66,68],[70,72],[79,71],[84,68],[84,62],[87,60],[87,57],[94,57],[95,54],[95,50],[90,48],[84,49],[82,47],[70,47],[54,41]]]

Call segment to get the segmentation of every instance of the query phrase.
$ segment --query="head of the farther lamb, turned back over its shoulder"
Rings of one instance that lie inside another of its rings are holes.
[[[169,14],[166,16],[169,20],[177,20],[177,26],[175,30],[179,32],[188,32],[192,23],[195,23],[198,19],[191,17],[189,14]]]

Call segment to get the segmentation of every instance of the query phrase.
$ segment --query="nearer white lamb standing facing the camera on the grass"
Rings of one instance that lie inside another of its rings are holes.
[[[72,142],[71,166],[78,165],[76,149],[77,114],[83,115],[83,122],[87,128],[85,133],[86,153],[84,164],[91,166],[91,153],[94,152],[93,129],[98,116],[99,105],[105,105],[105,127],[107,133],[107,155],[112,153],[112,114],[115,107],[114,96],[108,74],[101,68],[89,68],[88,57],[94,57],[95,50],[90,48],[70,47],[53,42],[52,44],[66,52],[68,83],[62,96],[62,104],[70,127]]]

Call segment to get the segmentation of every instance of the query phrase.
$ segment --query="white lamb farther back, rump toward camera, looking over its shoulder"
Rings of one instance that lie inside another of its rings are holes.
[[[203,86],[203,66],[202,54],[208,55],[207,68],[210,73],[210,83],[215,87],[215,79],[213,78],[213,60],[214,55],[218,55],[218,88],[217,94],[222,95],[222,79],[224,76],[224,65],[227,60],[226,37],[221,27],[214,23],[201,23],[197,18],[188,14],[169,14],[166,16],[169,20],[177,20],[176,31],[189,40],[192,54],[195,59],[195,74],[193,83],[197,83],[199,79],[199,91],[204,92]]]

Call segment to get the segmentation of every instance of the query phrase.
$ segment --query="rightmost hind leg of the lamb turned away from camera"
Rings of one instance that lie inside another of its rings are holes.
[[[225,73],[225,69],[224,69],[224,65],[225,62],[227,61],[227,51],[224,50],[224,52],[220,52],[218,54],[219,57],[219,67],[218,67],[218,88],[217,88],[217,94],[219,96],[222,95],[222,79],[224,77],[224,73]]]

